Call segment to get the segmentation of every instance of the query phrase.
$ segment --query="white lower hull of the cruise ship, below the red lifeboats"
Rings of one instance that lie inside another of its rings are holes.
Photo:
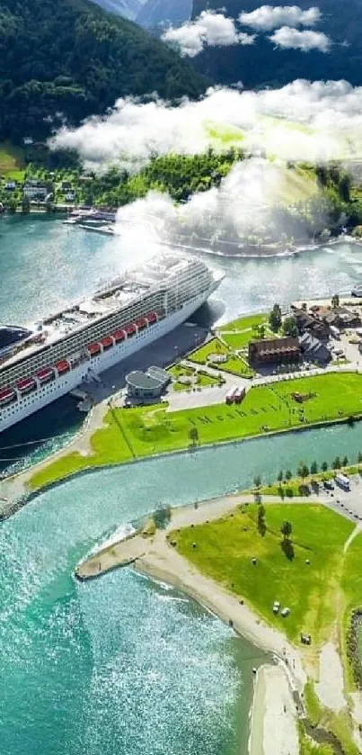
[[[79,364],[75,369],[70,372],[59,375],[55,380],[46,383],[38,388],[37,391],[31,391],[28,395],[22,397],[22,399],[11,403],[7,407],[3,407],[0,410],[0,432],[12,427],[17,422],[21,422],[22,419],[29,417],[39,409],[43,409],[53,401],[60,399],[69,391],[73,391],[76,386],[80,385],[84,380],[92,377],[92,373],[103,373],[105,370],[113,367],[114,364],[118,364],[121,360],[126,359],[128,356],[135,354],[141,348],[149,346],[158,338],[170,333],[171,330],[177,328],[186,319],[199,309],[199,307],[207,301],[208,297],[213,291],[215,291],[217,283],[214,283],[207,292],[203,292],[201,296],[196,296],[186,304],[183,305],[181,310],[173,312],[164,319],[160,319],[154,325],[137,335],[128,338],[126,341],[122,341],[120,344],[112,346],[111,348],[102,351],[101,354],[93,356],[93,358]]]

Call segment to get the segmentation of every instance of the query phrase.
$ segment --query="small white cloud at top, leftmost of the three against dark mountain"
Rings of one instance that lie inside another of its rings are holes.
[[[176,44],[181,54],[194,58],[204,47],[227,47],[236,44],[252,44],[253,34],[238,32],[232,18],[223,13],[203,11],[193,22],[163,33],[163,40]]]

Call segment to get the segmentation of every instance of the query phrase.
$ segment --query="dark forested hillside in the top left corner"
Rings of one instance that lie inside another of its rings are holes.
[[[0,0],[0,139],[44,138],[117,97],[197,97],[188,61],[87,0]]]

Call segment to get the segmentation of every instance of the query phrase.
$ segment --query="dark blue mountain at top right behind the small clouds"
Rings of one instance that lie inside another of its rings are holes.
[[[225,14],[236,19],[259,8],[260,0],[225,0]],[[273,4],[273,3],[270,3]],[[274,3],[275,5],[285,5]],[[347,79],[353,85],[362,83],[362,2],[361,0],[297,0],[288,5],[299,5],[306,10],[318,5],[322,20],[315,31],[323,31],[331,38],[331,51],[303,52],[299,49],[275,49],[268,36],[272,31],[259,33],[253,45],[234,45],[207,48],[193,59],[200,73],[224,84],[243,81],[246,87],[284,85],[296,78]],[[219,0],[194,0],[193,17],[205,9],[216,10]],[[240,27],[242,29],[242,27]],[[243,31],[252,29],[243,27]]]

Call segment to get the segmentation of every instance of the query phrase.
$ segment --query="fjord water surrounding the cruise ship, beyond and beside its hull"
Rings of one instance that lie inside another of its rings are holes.
[[[146,246],[144,238],[138,247],[127,235],[104,237],[47,215],[0,218],[0,321],[26,324],[57,311],[141,259]],[[362,247],[342,245],[269,260],[198,254],[225,270],[209,304],[214,320],[268,310],[275,301],[349,292],[362,280]],[[75,405],[76,400],[63,398],[42,410],[36,423],[30,418],[6,431],[0,440],[0,472],[15,472],[64,445],[84,419]],[[33,443],[40,438],[49,440]],[[21,445],[25,442],[29,445]]]

